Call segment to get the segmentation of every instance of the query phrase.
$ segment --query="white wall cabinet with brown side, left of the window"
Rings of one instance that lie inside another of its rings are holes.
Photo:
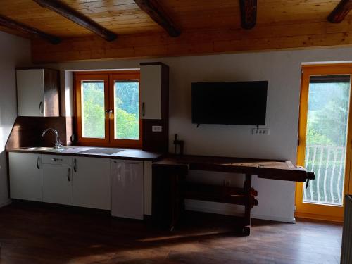
[[[59,116],[58,70],[18,69],[17,105],[19,116]]]

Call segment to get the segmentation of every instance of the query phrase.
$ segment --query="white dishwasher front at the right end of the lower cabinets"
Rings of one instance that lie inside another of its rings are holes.
[[[111,161],[111,215],[143,219],[143,161]]]

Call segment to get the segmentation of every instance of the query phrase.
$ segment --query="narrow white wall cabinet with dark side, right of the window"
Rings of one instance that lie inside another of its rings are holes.
[[[168,115],[163,109],[168,108],[169,68],[163,63],[141,63],[141,116],[142,119],[162,119]]]

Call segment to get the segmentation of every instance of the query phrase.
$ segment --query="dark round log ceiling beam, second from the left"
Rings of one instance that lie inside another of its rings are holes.
[[[108,42],[111,42],[118,37],[117,34],[111,32],[110,30],[107,30],[105,27],[102,27],[94,20],[88,18],[86,15],[83,15],[82,13],[76,11],[75,9],[70,8],[70,6],[64,4],[62,1],[59,1],[59,0],[33,0],[33,1],[37,2],[37,4],[39,4],[40,6],[44,8],[48,8],[49,10],[54,11],[65,18],[68,18],[74,23],[82,27],[85,27],[87,30],[94,32],[99,37],[102,37]]]

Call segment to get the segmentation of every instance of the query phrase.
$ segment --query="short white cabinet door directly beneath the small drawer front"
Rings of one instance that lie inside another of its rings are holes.
[[[43,164],[43,201],[72,205],[72,180],[70,166]]]

